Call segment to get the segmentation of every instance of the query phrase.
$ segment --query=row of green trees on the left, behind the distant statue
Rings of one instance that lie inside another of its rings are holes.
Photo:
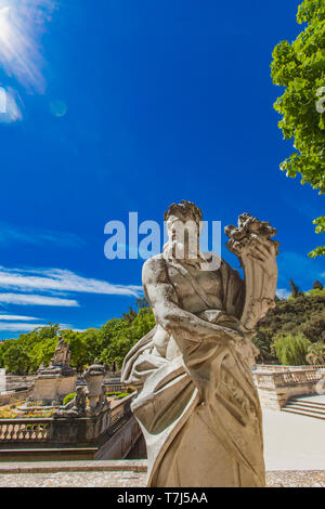
[[[57,345],[58,332],[69,343],[70,365],[77,370],[92,364],[95,358],[120,367],[133,344],[154,326],[155,318],[145,299],[135,301],[136,310],[129,309],[121,318],[108,319],[101,328],[84,331],[60,330],[57,324],[37,327],[17,339],[0,342],[0,367],[9,373],[35,373],[41,363],[49,365]]]

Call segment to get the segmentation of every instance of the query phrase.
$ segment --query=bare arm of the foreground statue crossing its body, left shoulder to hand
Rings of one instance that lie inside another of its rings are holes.
[[[180,308],[173,286],[168,279],[165,261],[151,258],[143,265],[142,282],[156,322],[167,332],[181,332],[188,339],[212,339],[216,332],[229,337],[229,329],[200,319]],[[233,332],[233,331],[232,331]]]

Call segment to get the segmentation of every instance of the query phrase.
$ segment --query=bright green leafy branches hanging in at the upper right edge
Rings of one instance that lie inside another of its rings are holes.
[[[273,50],[271,76],[285,87],[274,108],[283,115],[278,122],[284,139],[294,138],[296,152],[281,164],[288,177],[301,174],[301,183],[320,194],[325,192],[325,2],[304,0],[297,22],[306,28],[290,44],[281,41]],[[325,217],[315,219],[316,233],[325,232]],[[325,255],[325,246],[309,253]]]

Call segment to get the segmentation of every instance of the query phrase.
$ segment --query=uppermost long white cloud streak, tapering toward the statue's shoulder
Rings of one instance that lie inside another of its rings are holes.
[[[135,285],[114,285],[105,280],[87,278],[61,269],[8,270],[0,267],[0,288],[24,291],[74,291],[139,297],[142,287]]]

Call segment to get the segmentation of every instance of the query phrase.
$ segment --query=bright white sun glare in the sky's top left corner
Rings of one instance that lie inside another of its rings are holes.
[[[38,93],[46,89],[46,61],[39,41],[56,3],[0,0],[0,65],[8,76]]]

